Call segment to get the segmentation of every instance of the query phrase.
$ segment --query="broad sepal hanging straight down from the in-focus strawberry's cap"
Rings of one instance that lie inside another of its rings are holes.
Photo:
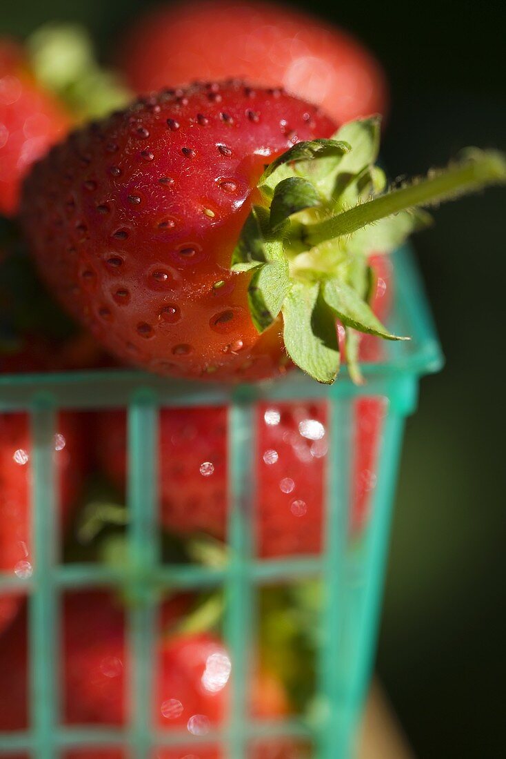
[[[284,347],[294,364],[331,385],[339,371],[339,344],[332,309],[319,282],[293,282],[282,308]]]

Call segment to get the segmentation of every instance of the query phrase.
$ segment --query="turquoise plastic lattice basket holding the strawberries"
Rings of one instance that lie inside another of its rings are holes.
[[[127,746],[131,757],[147,759],[154,747],[184,745],[202,738],[152,728],[152,656],[156,599],[160,587],[225,589],[225,640],[232,661],[231,708],[222,729],[206,743],[222,746],[226,759],[246,759],[253,739],[308,737],[317,759],[349,759],[376,647],[385,575],[391,505],[397,480],[404,420],[416,407],[420,376],[442,366],[442,354],[420,279],[408,248],[394,254],[396,296],[391,329],[410,342],[388,343],[386,360],[363,367],[366,385],[357,387],[343,370],[332,387],[298,373],[277,383],[228,388],[179,383],[135,371],[26,374],[0,377],[0,410],[28,411],[33,429],[33,575],[0,575],[0,594],[29,594],[30,713],[26,732],[0,734],[0,756],[28,752],[33,759],[57,759],[68,747]],[[384,421],[370,518],[360,540],[348,539],[350,502],[350,414],[359,396],[384,396]],[[318,556],[289,559],[253,557],[254,408],[256,402],[327,400],[329,407],[325,549]],[[229,477],[232,503],[228,524],[230,559],[222,569],[167,565],[159,558],[156,468],[160,406],[228,404]],[[61,408],[124,406],[128,413],[128,528],[130,564],[124,572],[93,564],[58,563],[55,535],[55,472],[52,440]],[[282,722],[252,720],[247,709],[247,653],[256,589],[260,584],[319,577],[325,583],[318,652],[318,694],[311,716]],[[127,612],[130,647],[130,723],[124,729],[71,728],[59,724],[58,641],[62,591],[127,584],[139,603]],[[0,641],[1,644],[1,641]]]

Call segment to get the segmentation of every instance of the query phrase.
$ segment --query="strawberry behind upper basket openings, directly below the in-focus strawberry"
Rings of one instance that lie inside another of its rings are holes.
[[[371,260],[379,317],[391,301],[391,264]],[[382,342],[362,338],[360,356],[379,361]],[[354,407],[353,506],[350,521],[360,530],[368,515],[385,403],[359,398]],[[256,540],[261,556],[319,553],[327,460],[324,403],[262,404],[257,415]],[[162,524],[176,534],[205,532],[225,538],[227,521],[227,413],[225,408],[163,409],[160,416]],[[102,467],[124,488],[126,422],[121,411],[102,414],[96,448]]]

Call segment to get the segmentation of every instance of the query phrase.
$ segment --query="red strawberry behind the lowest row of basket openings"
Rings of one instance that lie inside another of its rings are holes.
[[[162,607],[162,628],[178,619],[181,603],[174,598]],[[103,591],[68,596],[64,600],[64,723],[121,726],[126,716],[124,613]],[[26,619],[16,620],[2,639],[0,663],[0,729],[23,729],[27,725]],[[218,726],[227,710],[230,661],[223,644],[208,634],[162,637],[156,664],[156,715],[159,728],[187,727],[202,734]],[[15,696],[15,698],[13,698]],[[256,716],[284,716],[288,706],[281,685],[262,673],[253,696]],[[291,759],[288,746],[269,748],[272,754],[255,759]],[[215,748],[168,748],[160,759],[180,759],[188,753],[199,759],[220,759]],[[291,751],[291,748],[290,748]],[[182,752],[182,753],[181,753]],[[123,759],[121,749],[80,748],[65,759]]]

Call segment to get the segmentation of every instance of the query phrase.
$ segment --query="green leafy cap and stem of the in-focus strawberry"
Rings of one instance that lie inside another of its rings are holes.
[[[458,162],[386,190],[375,165],[379,117],[344,124],[329,140],[297,143],[266,166],[234,249],[231,269],[250,272],[248,299],[259,332],[280,314],[284,346],[300,369],[332,384],[340,366],[336,320],[345,330],[347,366],[360,332],[393,335],[372,312],[371,254],[388,254],[432,221],[424,206],[489,184],[506,183],[506,157],[467,149]]]

